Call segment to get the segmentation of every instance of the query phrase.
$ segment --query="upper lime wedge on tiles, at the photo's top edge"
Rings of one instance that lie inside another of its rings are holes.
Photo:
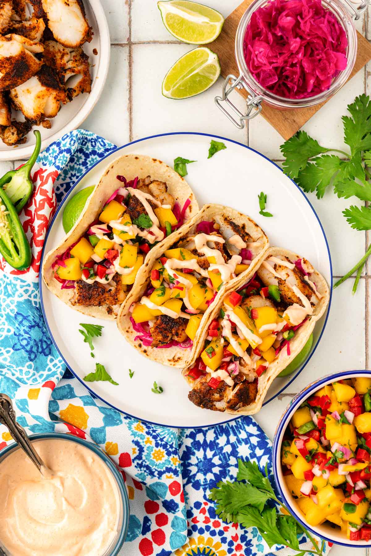
[[[188,44],[214,41],[224,23],[221,13],[197,2],[170,0],[157,6],[167,31]]]

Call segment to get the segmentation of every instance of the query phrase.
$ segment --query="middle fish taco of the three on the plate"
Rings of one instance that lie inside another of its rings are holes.
[[[184,368],[226,287],[266,249],[265,233],[248,216],[205,205],[152,252],[121,307],[118,328],[143,355]]]

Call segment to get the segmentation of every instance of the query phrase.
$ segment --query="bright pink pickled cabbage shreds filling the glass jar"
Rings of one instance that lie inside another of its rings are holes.
[[[326,91],[347,66],[347,36],[321,0],[270,0],[246,27],[244,57],[255,80],[284,98]]]

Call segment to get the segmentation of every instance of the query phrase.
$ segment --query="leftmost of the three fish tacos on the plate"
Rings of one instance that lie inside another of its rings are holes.
[[[120,156],[44,258],[43,279],[73,309],[115,319],[147,254],[198,210],[187,182],[164,162]]]

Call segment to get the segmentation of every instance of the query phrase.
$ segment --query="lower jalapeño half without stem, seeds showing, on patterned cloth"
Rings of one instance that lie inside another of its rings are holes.
[[[31,265],[31,247],[21,221],[6,192],[0,187],[0,253],[14,269]]]

